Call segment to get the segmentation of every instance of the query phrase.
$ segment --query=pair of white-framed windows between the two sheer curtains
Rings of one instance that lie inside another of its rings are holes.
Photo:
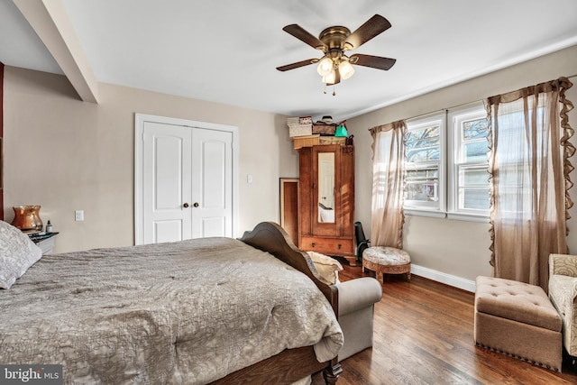
[[[481,104],[408,121],[406,212],[488,217],[488,133],[487,112]]]

